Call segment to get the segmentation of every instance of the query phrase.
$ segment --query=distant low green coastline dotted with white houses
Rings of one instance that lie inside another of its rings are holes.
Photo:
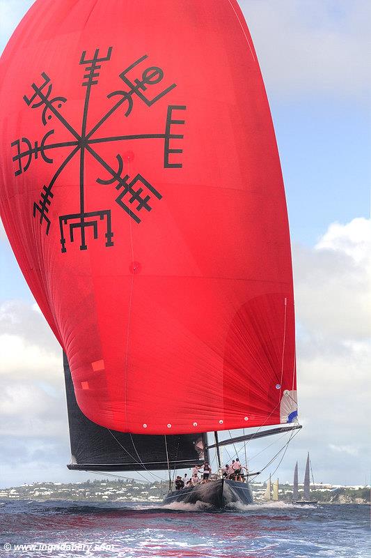
[[[265,483],[251,483],[254,499],[262,502]],[[70,500],[77,502],[161,502],[168,482],[95,480],[83,483],[32,483],[0,489],[2,500]],[[299,485],[299,498],[303,487]],[[310,493],[320,504],[370,504],[370,487],[319,484]],[[292,485],[279,487],[279,499],[291,502]]]

